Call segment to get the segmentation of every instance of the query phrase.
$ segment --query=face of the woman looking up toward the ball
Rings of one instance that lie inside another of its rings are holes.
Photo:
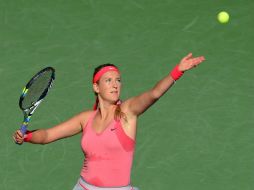
[[[99,80],[96,91],[105,100],[115,103],[119,100],[121,92],[120,74],[116,71],[109,71],[103,74]]]

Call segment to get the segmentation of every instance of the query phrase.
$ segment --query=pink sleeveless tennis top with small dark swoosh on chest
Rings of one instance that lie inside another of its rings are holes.
[[[92,123],[97,111],[91,114],[81,139],[86,156],[81,176],[99,187],[120,187],[130,184],[135,141],[127,136],[120,121],[113,120],[101,133]]]

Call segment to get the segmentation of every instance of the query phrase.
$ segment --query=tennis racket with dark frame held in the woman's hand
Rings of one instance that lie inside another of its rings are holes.
[[[27,126],[36,108],[46,97],[55,80],[55,69],[46,67],[34,75],[24,87],[19,98],[19,107],[24,113],[24,120],[20,127],[21,133],[27,132]]]

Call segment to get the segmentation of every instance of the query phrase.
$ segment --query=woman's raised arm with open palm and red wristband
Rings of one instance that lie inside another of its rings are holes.
[[[140,115],[153,105],[181,75],[205,60],[204,56],[193,57],[192,53],[185,56],[170,74],[161,79],[152,89],[126,100],[123,107],[132,115]]]

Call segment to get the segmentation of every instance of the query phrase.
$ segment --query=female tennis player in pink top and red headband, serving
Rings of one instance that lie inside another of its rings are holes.
[[[80,178],[73,190],[134,190],[131,167],[135,150],[137,119],[178,80],[205,59],[184,57],[176,67],[150,90],[120,101],[121,75],[113,64],[97,67],[93,75],[96,102],[93,110],[84,111],[49,129],[28,132],[17,130],[16,143],[47,144],[82,133],[85,155]]]

